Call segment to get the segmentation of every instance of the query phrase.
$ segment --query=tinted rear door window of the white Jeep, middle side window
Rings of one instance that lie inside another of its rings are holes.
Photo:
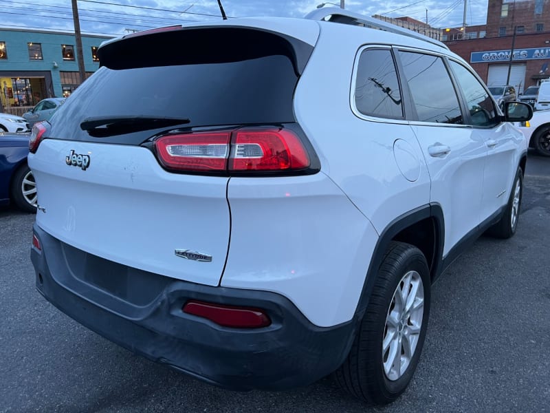
[[[441,57],[399,52],[399,58],[418,120],[462,124],[459,99]]]

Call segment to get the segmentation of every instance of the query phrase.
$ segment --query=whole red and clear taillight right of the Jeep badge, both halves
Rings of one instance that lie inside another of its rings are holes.
[[[311,165],[294,131],[275,127],[168,135],[155,147],[162,165],[177,171],[299,171]]]

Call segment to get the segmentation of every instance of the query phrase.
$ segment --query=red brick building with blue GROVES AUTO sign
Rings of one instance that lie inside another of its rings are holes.
[[[489,0],[487,25],[459,32],[451,29],[443,41],[489,86],[505,85],[509,77],[522,92],[550,77],[550,0]]]

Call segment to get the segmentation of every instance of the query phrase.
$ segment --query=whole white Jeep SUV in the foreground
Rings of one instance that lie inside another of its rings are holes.
[[[334,372],[365,401],[404,392],[434,279],[484,231],[516,232],[527,142],[509,122],[531,107],[501,114],[443,43],[340,8],[98,56],[30,141],[40,293],[208,383]]]

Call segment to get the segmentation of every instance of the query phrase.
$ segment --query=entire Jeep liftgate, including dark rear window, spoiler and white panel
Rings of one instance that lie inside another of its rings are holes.
[[[223,167],[228,145],[221,153],[212,136],[295,122],[294,89],[318,24],[305,21],[297,31],[285,24],[308,43],[235,23],[104,43],[100,69],[56,111],[29,156],[39,190],[37,224],[86,253],[218,285],[230,241],[230,173]],[[170,165],[158,159],[157,143],[166,136],[181,143],[171,147]],[[203,141],[188,145],[195,136]],[[189,169],[199,158],[206,169]],[[210,168],[212,159],[222,166]]]

